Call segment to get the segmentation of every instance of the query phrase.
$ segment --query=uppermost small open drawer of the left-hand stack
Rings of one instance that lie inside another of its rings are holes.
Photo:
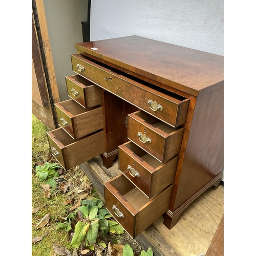
[[[84,108],[101,104],[101,88],[80,75],[66,76],[68,95]]]

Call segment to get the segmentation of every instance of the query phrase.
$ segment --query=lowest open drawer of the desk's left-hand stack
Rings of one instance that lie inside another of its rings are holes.
[[[47,132],[52,155],[60,165],[68,170],[104,152],[103,131],[73,140],[61,127]],[[56,155],[53,147],[58,146]],[[59,151],[60,150],[60,151]]]

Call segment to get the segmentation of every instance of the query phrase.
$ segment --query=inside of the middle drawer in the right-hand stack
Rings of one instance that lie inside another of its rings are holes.
[[[125,146],[134,153],[133,155],[140,157],[144,162],[148,163],[153,168],[157,169],[159,166],[162,165],[160,161],[158,161],[156,158],[154,158],[150,154],[146,153],[144,150],[142,150],[139,146],[137,146],[133,142],[129,142],[125,144]]]

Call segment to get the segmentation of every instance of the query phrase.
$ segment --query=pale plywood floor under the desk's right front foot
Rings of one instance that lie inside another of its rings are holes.
[[[207,189],[182,212],[172,229],[163,225],[163,217],[152,226],[179,256],[205,253],[223,215],[223,195],[221,185]]]

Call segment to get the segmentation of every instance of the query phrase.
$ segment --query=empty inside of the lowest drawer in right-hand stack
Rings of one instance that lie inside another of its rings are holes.
[[[110,181],[111,185],[119,192],[119,194],[129,202],[136,210],[140,210],[145,204],[150,202],[148,199],[132,182],[130,182],[124,175]]]

